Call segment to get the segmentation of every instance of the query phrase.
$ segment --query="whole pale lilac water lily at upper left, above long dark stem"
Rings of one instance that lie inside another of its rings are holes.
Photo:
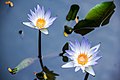
[[[38,29],[44,34],[48,34],[47,28],[53,24],[57,17],[51,17],[49,10],[45,13],[43,6],[40,7],[37,5],[37,8],[34,8],[34,10],[34,12],[30,10],[31,15],[28,14],[30,22],[23,22],[23,24]]]

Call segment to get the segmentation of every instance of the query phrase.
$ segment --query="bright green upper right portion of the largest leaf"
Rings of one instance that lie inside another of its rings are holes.
[[[85,19],[94,20],[97,24],[100,25],[106,19],[112,16],[114,9],[115,9],[115,4],[113,3],[113,1],[97,4],[88,12]]]

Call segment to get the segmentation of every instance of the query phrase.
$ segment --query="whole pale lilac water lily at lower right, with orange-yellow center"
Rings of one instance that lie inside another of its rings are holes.
[[[75,67],[75,72],[81,69],[83,73],[88,72],[95,76],[92,66],[97,64],[97,60],[101,58],[101,56],[97,56],[100,43],[91,48],[88,39],[83,37],[81,43],[77,40],[75,42],[69,42],[69,47],[70,49],[66,50],[66,56],[71,61],[64,64],[62,68]]]

